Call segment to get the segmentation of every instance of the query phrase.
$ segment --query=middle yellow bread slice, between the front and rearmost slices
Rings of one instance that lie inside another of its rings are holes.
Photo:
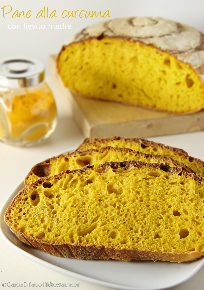
[[[107,161],[128,161],[140,160],[147,163],[163,163],[171,167],[181,167],[187,172],[196,173],[190,167],[170,157],[154,154],[145,154],[130,148],[103,147],[101,149],[88,149],[75,151],[73,153],[61,154],[56,157],[46,159],[36,164],[26,176],[25,186],[36,181],[40,177],[56,175],[61,171],[82,168],[88,164],[99,166]]]

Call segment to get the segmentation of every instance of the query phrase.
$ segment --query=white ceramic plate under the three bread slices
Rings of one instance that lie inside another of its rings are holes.
[[[62,153],[72,152],[73,149]],[[15,195],[24,188],[22,180],[12,191],[0,211],[0,233],[17,252],[45,267],[81,280],[116,289],[156,290],[174,287],[195,275],[204,257],[192,262],[78,260],[55,257],[30,248],[13,234],[3,217]]]

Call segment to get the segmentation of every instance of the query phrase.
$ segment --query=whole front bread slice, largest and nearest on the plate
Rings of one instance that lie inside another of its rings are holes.
[[[204,255],[204,179],[141,161],[43,177],[5,213],[24,243],[79,259],[191,261]]]

